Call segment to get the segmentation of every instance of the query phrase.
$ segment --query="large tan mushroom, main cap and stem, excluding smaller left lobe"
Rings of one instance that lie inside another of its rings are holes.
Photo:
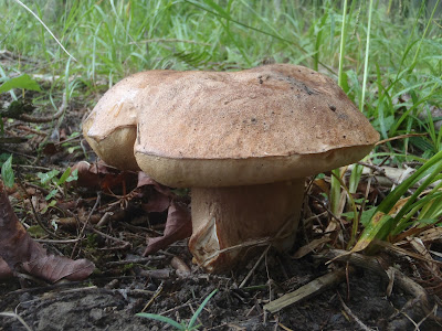
[[[332,78],[290,64],[175,72],[136,104],[136,162],[191,188],[189,248],[210,273],[232,268],[250,243],[288,248],[305,178],[360,160],[379,139]]]

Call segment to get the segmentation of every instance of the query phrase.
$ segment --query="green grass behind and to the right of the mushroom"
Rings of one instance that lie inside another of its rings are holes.
[[[442,108],[441,2],[359,0],[349,1],[345,12],[344,3],[347,1],[30,1],[30,9],[75,62],[28,11],[4,0],[0,2],[0,49],[25,60],[3,63],[0,74],[3,79],[18,73],[60,75],[51,90],[64,89],[69,98],[108,87],[144,70],[240,70],[269,61],[302,64],[338,81],[381,139],[427,134],[383,143],[371,156],[375,162],[385,156],[392,166],[432,158],[429,162],[439,169],[442,131],[435,129],[430,114],[432,107]],[[354,173],[349,192],[355,191],[358,178]],[[388,214],[412,183],[392,192],[378,212]],[[341,184],[335,181],[338,197]],[[434,207],[439,194],[432,190],[414,196],[401,220],[382,222],[392,222],[388,228],[397,235],[398,229],[413,226],[412,212],[420,211],[421,217],[431,215],[431,220],[440,217]],[[356,234],[355,229],[357,223]],[[362,237],[386,238],[386,234],[376,228]]]

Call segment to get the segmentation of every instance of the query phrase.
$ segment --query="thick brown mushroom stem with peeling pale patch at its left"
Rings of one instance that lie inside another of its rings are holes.
[[[278,249],[292,247],[304,179],[246,186],[192,188],[191,194],[193,234],[189,248],[202,268],[219,273],[244,258],[245,250],[251,248],[244,245],[246,242],[262,243],[267,238]]]

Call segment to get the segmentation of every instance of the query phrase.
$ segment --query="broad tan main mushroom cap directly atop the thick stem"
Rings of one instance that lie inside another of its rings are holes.
[[[302,178],[356,162],[379,139],[332,78],[290,64],[185,72],[140,99],[136,160],[171,186]]]

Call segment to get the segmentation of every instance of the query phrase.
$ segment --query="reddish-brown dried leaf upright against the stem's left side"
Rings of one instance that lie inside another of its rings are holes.
[[[162,237],[149,238],[144,256],[167,248],[177,241],[188,238],[192,234],[192,222],[189,209],[176,201],[170,203],[166,228]]]

